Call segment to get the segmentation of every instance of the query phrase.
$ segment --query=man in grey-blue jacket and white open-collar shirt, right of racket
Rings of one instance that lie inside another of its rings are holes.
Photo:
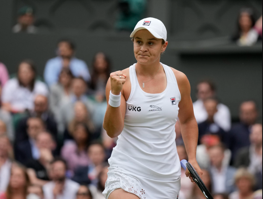
[[[235,191],[234,175],[236,169],[223,164],[225,148],[222,144],[211,146],[208,150],[210,157],[210,175],[212,192],[231,193]]]

